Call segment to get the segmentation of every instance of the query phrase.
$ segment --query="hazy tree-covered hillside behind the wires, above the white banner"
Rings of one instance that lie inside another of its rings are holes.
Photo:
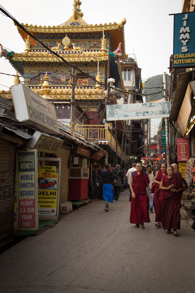
[[[157,87],[157,88],[155,88]],[[162,89],[160,88],[162,87]],[[170,88],[170,76],[167,74],[167,90],[169,92]],[[151,95],[146,96],[146,102],[157,101],[163,98],[163,74],[155,75],[148,78],[148,81],[145,82],[145,93]],[[157,93],[161,91],[161,93]],[[157,93],[157,94],[154,94]]]

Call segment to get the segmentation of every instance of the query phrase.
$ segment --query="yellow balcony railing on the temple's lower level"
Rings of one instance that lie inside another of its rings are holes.
[[[117,151],[118,155],[124,159],[124,150],[117,144],[116,137],[112,133],[112,130],[108,125],[75,125],[75,131],[83,135],[88,140],[98,140],[101,142],[108,142],[110,147]],[[117,146],[116,146],[117,145]],[[128,160],[128,156],[125,155],[125,160]]]

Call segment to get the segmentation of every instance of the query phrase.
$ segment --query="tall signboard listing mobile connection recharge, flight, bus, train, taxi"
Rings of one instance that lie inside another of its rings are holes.
[[[17,230],[38,230],[37,149],[17,151]]]

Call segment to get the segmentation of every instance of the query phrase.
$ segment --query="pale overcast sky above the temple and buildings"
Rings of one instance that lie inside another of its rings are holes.
[[[9,0],[1,5],[20,23],[59,25],[72,15],[73,0],[55,1]],[[142,79],[162,74],[169,67],[173,52],[173,16],[180,13],[182,0],[83,0],[83,19],[89,24],[120,23],[126,18],[126,53],[136,55],[142,68]],[[25,43],[10,18],[0,14],[0,43],[17,53],[24,52]],[[3,28],[3,29],[2,29]],[[120,40],[119,40],[120,41]],[[15,69],[4,57],[0,58],[0,72],[15,74]],[[0,89],[13,84],[13,76],[0,74]],[[3,86],[2,86],[3,85]]]

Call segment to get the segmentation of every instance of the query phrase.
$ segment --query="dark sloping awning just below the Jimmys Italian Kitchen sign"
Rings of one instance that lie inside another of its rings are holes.
[[[192,80],[192,77],[193,77],[193,71],[187,71],[187,72],[178,74],[177,88],[176,88],[175,97],[173,101],[173,107],[171,109],[170,116],[169,116],[170,121],[177,121],[179,110],[182,106],[188,83]]]

